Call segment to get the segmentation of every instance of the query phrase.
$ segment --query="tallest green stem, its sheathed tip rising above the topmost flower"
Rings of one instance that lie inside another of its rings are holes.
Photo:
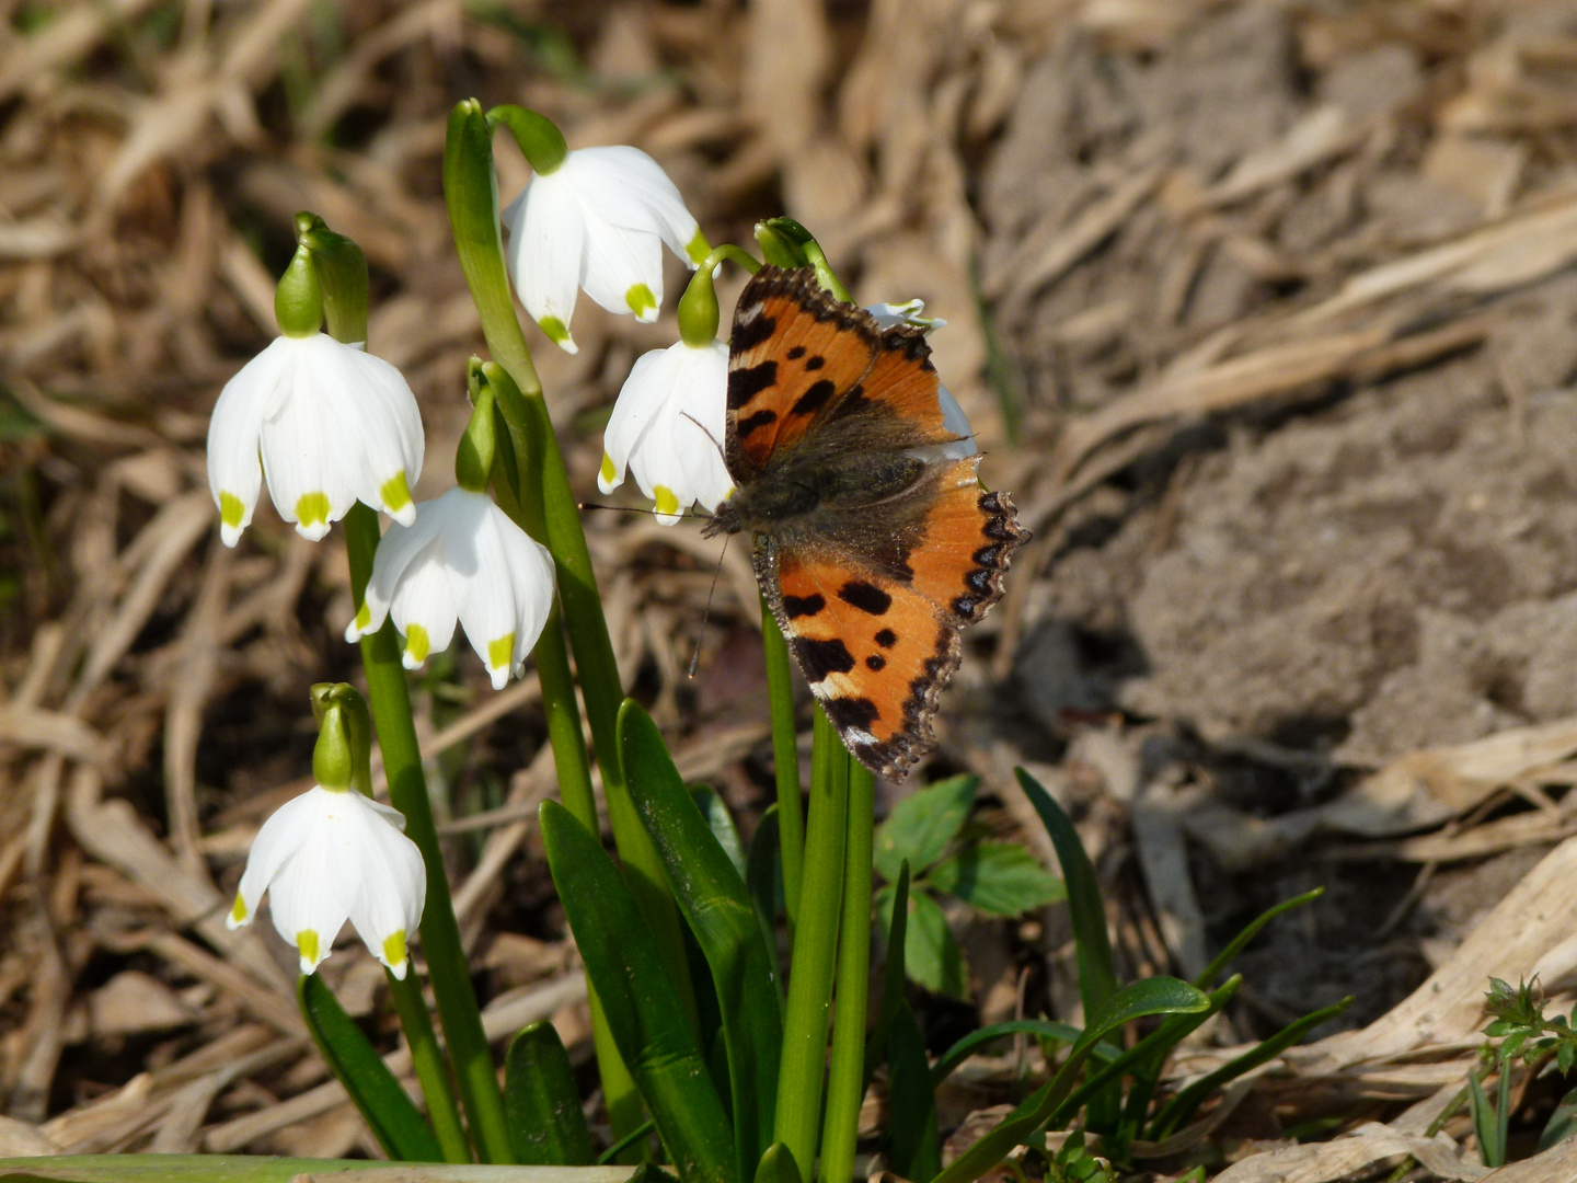
[[[602,617],[602,599],[591,569],[591,552],[580,527],[580,505],[569,487],[569,473],[558,438],[542,402],[542,383],[514,314],[514,300],[503,265],[498,229],[498,194],[492,172],[492,132],[481,104],[465,99],[449,114],[443,151],[443,189],[454,230],[454,246],[465,271],[472,300],[483,322],[483,336],[494,360],[517,390],[498,386],[498,409],[509,432],[522,438],[520,473],[524,498],[541,497],[547,549],[558,568],[558,601],[580,674],[587,719],[602,793],[607,798],[613,844],[624,879],[642,916],[651,926],[692,1028],[700,1030],[695,991],[691,984],[680,913],[669,890],[658,849],[640,823],[618,760],[618,708],[624,686],[613,658],[613,642]],[[623,1131],[621,1131],[623,1133]]]

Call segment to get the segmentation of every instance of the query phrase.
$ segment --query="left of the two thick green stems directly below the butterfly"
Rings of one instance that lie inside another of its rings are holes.
[[[848,833],[848,762],[837,732],[820,708],[811,748],[811,820],[804,841],[800,931],[788,967],[784,1052],[777,1069],[774,1137],[788,1147],[800,1177],[815,1177],[815,1140],[822,1121],[826,1028],[831,1021],[837,921],[844,894]],[[869,907],[869,899],[864,904]],[[869,923],[869,915],[866,916]]]

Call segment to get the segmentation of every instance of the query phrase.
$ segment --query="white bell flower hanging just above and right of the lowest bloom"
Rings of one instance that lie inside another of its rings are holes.
[[[494,689],[503,689],[536,645],[552,603],[547,547],[487,494],[456,487],[421,502],[410,527],[383,535],[345,640],[360,640],[393,614],[405,636],[405,669],[416,669],[427,653],[449,647],[459,621]]]

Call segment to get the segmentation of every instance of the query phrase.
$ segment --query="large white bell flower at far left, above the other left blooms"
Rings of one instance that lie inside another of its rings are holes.
[[[358,500],[410,522],[421,456],[421,412],[394,366],[323,333],[276,338],[226,383],[208,423],[224,544],[251,524],[263,473],[304,538],[326,535]]]

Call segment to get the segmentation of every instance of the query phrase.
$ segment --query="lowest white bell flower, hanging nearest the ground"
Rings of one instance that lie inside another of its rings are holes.
[[[226,924],[251,924],[268,891],[274,927],[300,951],[303,973],[333,951],[349,920],[372,956],[404,978],[405,942],[427,898],[427,869],[404,831],[397,809],[352,789],[312,787],[257,831]]]

